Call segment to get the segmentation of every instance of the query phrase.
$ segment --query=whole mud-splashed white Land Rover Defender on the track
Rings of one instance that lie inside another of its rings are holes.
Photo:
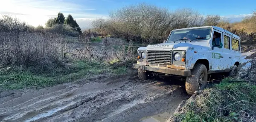
[[[192,95],[204,89],[208,75],[238,75],[241,63],[240,38],[223,28],[204,26],[171,31],[167,41],[137,50],[138,76],[152,74],[186,78],[186,92]]]

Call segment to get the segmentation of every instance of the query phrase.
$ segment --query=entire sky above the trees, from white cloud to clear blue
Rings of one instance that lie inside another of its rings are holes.
[[[137,3],[149,3],[170,11],[193,8],[201,14],[218,14],[232,22],[256,10],[256,0],[0,0],[0,3],[0,14],[10,14],[30,25],[44,25],[60,11],[66,17],[71,14],[81,28],[89,27],[97,17],[107,18],[109,11]]]

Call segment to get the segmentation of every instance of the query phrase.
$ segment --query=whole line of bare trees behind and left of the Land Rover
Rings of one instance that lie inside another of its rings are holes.
[[[204,25],[224,27],[221,25],[223,23],[231,25],[219,15],[204,16],[192,8],[169,11],[167,8],[140,3],[111,11],[108,19],[97,18],[91,24],[93,30],[102,35],[111,34],[138,43],[158,43],[163,42],[173,29]]]

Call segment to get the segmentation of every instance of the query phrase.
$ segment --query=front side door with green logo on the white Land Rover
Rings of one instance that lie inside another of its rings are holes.
[[[223,34],[220,31],[217,30],[213,30],[212,33],[212,38],[213,38],[213,34],[216,34],[216,38],[220,38],[221,39],[221,43],[223,45]],[[211,48],[213,47],[212,44],[212,38],[211,38]],[[224,45],[220,48],[220,47],[213,47],[213,50],[211,50],[211,56],[209,57],[210,61],[210,71],[218,71],[218,70],[223,70],[225,69],[224,67],[224,55],[223,55],[223,47]]]

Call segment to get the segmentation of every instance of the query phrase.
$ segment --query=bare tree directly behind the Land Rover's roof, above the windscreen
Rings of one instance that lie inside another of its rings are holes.
[[[175,18],[172,22],[173,29],[189,28],[204,25],[204,15],[191,8],[177,9],[172,16]]]

